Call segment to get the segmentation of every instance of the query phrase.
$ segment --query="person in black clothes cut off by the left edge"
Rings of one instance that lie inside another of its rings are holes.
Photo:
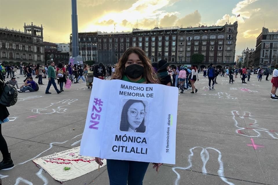
[[[5,85],[5,79],[0,75],[0,96],[3,93]],[[5,138],[2,135],[2,123],[9,121],[9,111],[6,106],[0,104],[0,151],[3,155],[3,160],[0,162],[0,170],[10,168],[14,166],[14,163],[11,158],[11,153],[9,153],[8,145]]]

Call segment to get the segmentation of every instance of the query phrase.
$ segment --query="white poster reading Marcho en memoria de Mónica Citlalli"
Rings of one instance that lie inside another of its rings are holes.
[[[94,77],[92,89],[81,155],[175,164],[178,88]]]

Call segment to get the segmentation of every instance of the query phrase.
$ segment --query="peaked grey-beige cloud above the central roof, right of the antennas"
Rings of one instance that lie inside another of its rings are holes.
[[[188,26],[198,26],[201,22],[201,14],[198,12],[198,10],[195,10],[195,12],[188,14],[182,18],[180,18],[177,22],[176,25],[178,26],[183,26],[183,27],[188,27]]]

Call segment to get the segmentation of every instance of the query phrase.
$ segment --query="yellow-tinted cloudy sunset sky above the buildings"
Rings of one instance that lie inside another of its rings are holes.
[[[132,31],[133,27],[224,25],[238,17],[236,55],[255,48],[265,25],[278,29],[277,0],[77,0],[79,32]],[[0,0],[0,27],[23,30],[24,23],[43,25],[44,41],[69,42],[70,0]]]

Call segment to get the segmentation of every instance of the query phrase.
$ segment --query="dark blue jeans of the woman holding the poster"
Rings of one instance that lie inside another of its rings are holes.
[[[107,159],[110,185],[142,185],[149,162]]]

